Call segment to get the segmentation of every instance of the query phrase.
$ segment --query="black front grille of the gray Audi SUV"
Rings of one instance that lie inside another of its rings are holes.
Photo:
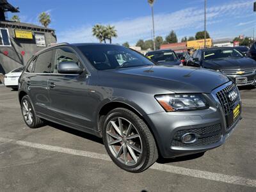
[[[230,97],[228,97],[228,95],[232,92],[237,93],[236,98],[231,99]],[[223,88],[223,90],[220,90],[219,92],[217,92],[216,97],[220,101],[221,107],[225,112],[225,115],[228,115],[234,108],[234,104],[236,104],[236,102],[240,100],[239,90],[236,84],[234,83]]]

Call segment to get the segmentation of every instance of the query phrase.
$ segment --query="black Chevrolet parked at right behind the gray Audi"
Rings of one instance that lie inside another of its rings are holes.
[[[256,61],[244,57],[236,47],[199,49],[189,65],[209,68],[226,74],[237,86],[256,84]]]

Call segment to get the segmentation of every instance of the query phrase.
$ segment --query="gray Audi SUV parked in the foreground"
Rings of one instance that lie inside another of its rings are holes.
[[[45,120],[103,139],[115,164],[142,172],[159,156],[203,153],[241,119],[236,84],[202,68],[159,66],[120,45],[59,44],[19,79],[28,127]]]

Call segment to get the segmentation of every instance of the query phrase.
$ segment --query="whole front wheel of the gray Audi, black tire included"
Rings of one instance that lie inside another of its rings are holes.
[[[158,158],[154,136],[129,109],[116,108],[108,113],[102,138],[112,161],[127,172],[143,172]]]

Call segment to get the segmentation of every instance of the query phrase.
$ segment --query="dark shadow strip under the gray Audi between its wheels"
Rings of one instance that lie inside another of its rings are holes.
[[[102,139],[98,138],[97,136],[94,136],[93,134],[86,133],[86,132],[83,132],[83,131],[78,131],[76,129],[65,127],[65,126],[59,125],[59,124],[54,124],[54,123],[48,122],[48,121],[46,121],[46,125],[54,127],[55,129],[59,129],[60,131],[65,131],[65,132],[68,132],[70,134],[74,134],[74,135],[79,136],[81,138],[84,138],[86,140],[95,141],[95,142],[100,143],[100,144],[103,145]]]

